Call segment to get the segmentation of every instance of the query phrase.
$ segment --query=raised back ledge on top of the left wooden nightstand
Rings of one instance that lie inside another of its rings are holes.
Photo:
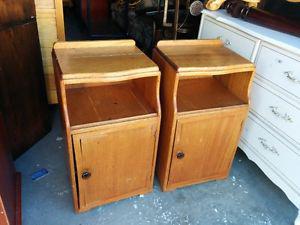
[[[135,46],[135,41],[127,40],[101,40],[101,41],[57,41],[54,43],[54,49],[68,48],[95,48],[95,47],[111,47],[111,46]]]

